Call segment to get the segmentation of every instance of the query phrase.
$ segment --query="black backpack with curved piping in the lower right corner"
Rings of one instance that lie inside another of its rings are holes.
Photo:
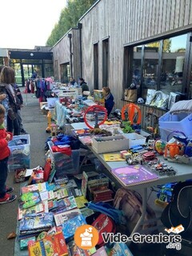
[[[192,234],[192,181],[178,182],[174,186],[171,202],[162,212],[162,224],[170,229],[182,224],[182,234]]]

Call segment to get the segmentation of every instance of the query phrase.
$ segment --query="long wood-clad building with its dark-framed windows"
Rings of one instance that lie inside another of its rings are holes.
[[[154,89],[191,98],[191,42],[190,0],[99,0],[51,49],[54,76],[110,86],[117,108],[132,82],[138,97]]]

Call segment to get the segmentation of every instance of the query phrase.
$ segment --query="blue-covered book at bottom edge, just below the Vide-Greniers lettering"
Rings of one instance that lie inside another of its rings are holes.
[[[115,242],[112,248],[106,248],[106,254],[108,256],[133,256],[131,254],[130,249],[126,246],[125,242],[118,243]]]

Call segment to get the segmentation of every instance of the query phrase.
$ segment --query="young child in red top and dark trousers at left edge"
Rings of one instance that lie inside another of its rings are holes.
[[[17,198],[14,194],[10,195],[14,189],[6,186],[7,162],[10,156],[8,142],[13,138],[13,134],[6,132],[4,128],[5,114],[6,110],[0,104],[0,204],[12,202]]]

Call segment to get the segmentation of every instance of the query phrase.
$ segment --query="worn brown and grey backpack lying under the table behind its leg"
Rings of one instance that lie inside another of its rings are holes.
[[[125,218],[123,229],[125,229],[124,232],[130,235],[142,214],[141,195],[134,190],[118,189],[114,196],[114,207],[118,210],[122,210],[122,214]],[[147,205],[144,222],[153,218],[156,218],[154,210]],[[153,222],[143,223],[141,225],[141,230],[154,226],[157,226],[155,220]]]

